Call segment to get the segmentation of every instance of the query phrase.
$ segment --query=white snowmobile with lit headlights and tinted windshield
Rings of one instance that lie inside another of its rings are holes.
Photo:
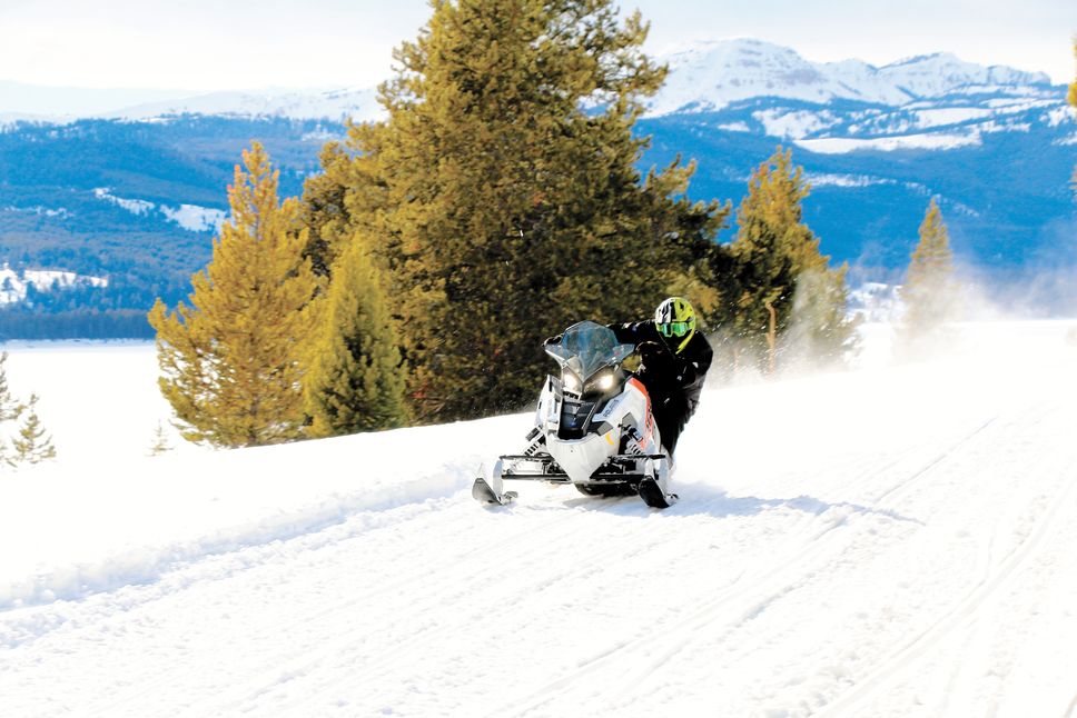
[[[472,496],[482,503],[516,498],[505,481],[571,483],[589,496],[639,495],[651,507],[676,501],[670,492],[671,461],[651,413],[646,388],[624,363],[633,345],[617,342],[609,327],[573,325],[546,353],[560,367],[538,397],[527,448],[497,459],[488,475],[480,469]]]

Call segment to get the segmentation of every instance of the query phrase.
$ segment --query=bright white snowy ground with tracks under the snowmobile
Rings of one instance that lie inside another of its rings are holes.
[[[524,415],[149,458],[152,347],[9,347],[0,716],[1077,716],[1077,322],[869,329],[707,391],[665,511],[480,507]]]

